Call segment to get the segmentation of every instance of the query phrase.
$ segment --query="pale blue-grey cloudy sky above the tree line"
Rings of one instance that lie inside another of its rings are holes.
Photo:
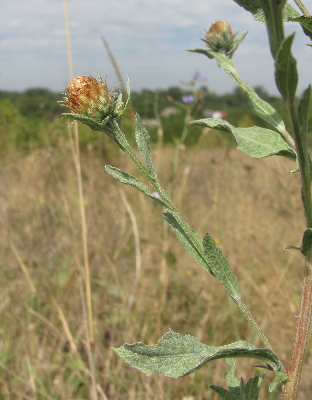
[[[312,12],[312,0],[304,4]],[[109,87],[117,84],[104,36],[133,90],[180,86],[199,71],[209,90],[231,92],[235,84],[214,60],[186,51],[204,48],[205,30],[217,20],[227,20],[233,32],[248,30],[233,57],[240,76],[278,94],[266,26],[232,0],[67,0],[67,8],[74,76],[104,74]],[[312,47],[304,46],[310,40],[298,23],[286,23],[285,31],[296,31],[293,54],[300,95],[312,80]],[[2,2],[0,90],[42,87],[64,92],[69,81],[63,2]]]

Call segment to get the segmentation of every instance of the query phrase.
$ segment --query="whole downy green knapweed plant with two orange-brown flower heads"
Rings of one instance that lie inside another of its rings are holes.
[[[300,251],[305,256],[306,261],[296,335],[288,368],[281,364],[279,356],[274,352],[264,332],[244,304],[239,284],[221,249],[215,244],[209,233],[206,233],[203,238],[199,237],[197,232],[185,222],[163,190],[151,159],[149,136],[139,115],[135,116],[135,135],[145,165],[129,146],[121,125],[122,117],[131,102],[129,79],[127,79],[128,99],[125,103],[122,100],[121,93],[114,90],[109,91],[102,78],[98,82],[91,76],[75,78],[68,85],[67,97],[64,100],[66,106],[72,112],[63,114],[63,116],[87,124],[91,129],[107,134],[131,158],[153,188],[152,191],[143,182],[127,172],[109,165],[105,169],[122,183],[140,190],[165,209],[163,218],[176,233],[177,239],[198,264],[211,274],[211,279],[217,279],[221,282],[229,296],[253,326],[263,344],[263,347],[257,348],[240,340],[225,346],[215,347],[203,344],[193,336],[182,336],[170,330],[163,335],[158,344],[153,346],[147,346],[143,343],[125,343],[113,350],[132,367],[145,372],[147,375],[153,372],[164,372],[167,376],[175,378],[191,374],[207,362],[225,358],[231,368],[226,377],[228,389],[219,386],[211,386],[211,388],[226,400],[256,400],[265,375],[264,373],[262,376],[250,378],[247,383],[243,379],[238,381],[234,375],[233,358],[236,357],[260,360],[260,366],[264,368],[264,371],[268,369],[275,372],[275,378],[269,388],[270,392],[275,390],[278,384],[282,384],[282,399],[297,399],[310,332],[312,314],[312,163],[307,148],[307,119],[311,89],[308,86],[304,90],[299,102],[295,99],[298,74],[296,60],[291,52],[294,34],[288,37],[284,36],[283,22],[299,22],[304,33],[311,39],[312,18],[301,1],[295,1],[301,13],[292,8],[290,4],[286,4],[285,0],[235,0],[245,10],[251,12],[256,21],[265,23],[267,26],[270,50],[275,64],[276,85],[288,111],[291,132],[286,130],[284,121],[278,112],[262,100],[236,71],[232,57],[247,32],[236,38],[237,34],[232,33],[227,22],[218,21],[207,30],[203,39],[207,47],[190,50],[214,59],[219,67],[223,68],[240,86],[252,110],[269,123],[272,128],[265,129],[258,126],[237,128],[225,120],[212,118],[192,121],[191,124],[233,135],[238,143],[238,150],[251,157],[262,158],[273,155],[287,157],[294,161],[294,168],[290,172],[296,172],[301,176],[301,197],[306,218],[306,229],[302,227],[301,247],[288,246],[288,248]]]

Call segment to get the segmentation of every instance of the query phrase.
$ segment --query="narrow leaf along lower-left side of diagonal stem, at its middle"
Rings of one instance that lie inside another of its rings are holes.
[[[199,265],[201,265],[206,271],[214,276],[209,265],[207,264],[207,261],[205,260],[205,258],[203,258],[201,253],[198,251],[198,248],[196,248],[195,244],[192,242],[192,240],[189,238],[187,233],[183,230],[183,228],[181,227],[179,222],[177,222],[174,216],[169,212],[165,212],[163,214],[163,218],[165,218],[165,220],[171,226],[172,230],[176,233],[177,239],[183,244],[185,250],[198,262]],[[200,246],[202,248],[202,241],[198,233],[191,228],[189,229],[192,232],[193,237],[197,239],[197,247]]]

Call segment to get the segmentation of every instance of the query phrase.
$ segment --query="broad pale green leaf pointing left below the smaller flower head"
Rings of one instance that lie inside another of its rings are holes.
[[[289,158],[293,158],[293,152],[288,150],[288,144],[281,136],[272,130],[253,126],[252,128],[235,128],[225,120],[205,118],[192,121],[191,124],[207,126],[233,134],[238,143],[238,150],[251,157],[262,158],[273,154],[285,155],[281,151],[289,152]],[[287,153],[288,154],[288,153]]]

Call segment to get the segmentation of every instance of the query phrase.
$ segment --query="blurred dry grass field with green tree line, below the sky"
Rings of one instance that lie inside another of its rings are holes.
[[[257,90],[286,118],[280,99]],[[194,119],[222,110],[236,126],[265,126],[239,91],[223,96],[202,91]],[[164,188],[172,181],[172,198],[185,220],[200,236],[208,231],[221,247],[244,302],[287,366],[304,257],[284,248],[300,246],[305,229],[300,176],[288,173],[294,168],[290,160],[249,158],[235,149],[230,136],[194,126],[172,176],[185,114],[176,103],[183,94],[189,92],[171,88],[157,94],[161,142],[155,93],[133,94],[134,111],[151,136],[160,181]],[[57,103],[61,98],[42,89],[0,92],[1,399],[90,398],[79,196],[69,121],[59,117],[65,111]],[[162,113],[168,108],[176,110]],[[135,147],[131,113],[123,124]],[[99,398],[217,399],[209,385],[225,385],[228,366],[223,360],[175,380],[162,374],[146,377],[111,350],[124,342],[155,344],[169,328],[215,346],[240,339],[260,343],[221,284],[163,224],[163,210],[105,172],[110,164],[142,179],[126,156],[100,132],[80,126],[79,136]],[[255,364],[238,360],[238,378],[261,373]],[[309,352],[301,399],[311,398],[311,372]],[[266,387],[273,375],[267,377]],[[260,392],[260,398],[279,398],[267,393]]]

